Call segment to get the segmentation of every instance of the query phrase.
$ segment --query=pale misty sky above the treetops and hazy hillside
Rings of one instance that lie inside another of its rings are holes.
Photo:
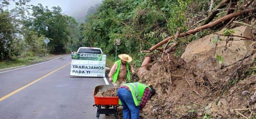
[[[52,8],[60,6],[62,12],[76,19],[77,22],[84,22],[84,17],[90,6],[100,3],[102,0],[31,0],[28,4],[37,5],[41,3],[43,6]]]

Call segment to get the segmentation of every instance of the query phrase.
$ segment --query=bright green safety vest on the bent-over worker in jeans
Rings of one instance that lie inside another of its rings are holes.
[[[129,87],[134,104],[136,106],[139,106],[142,96],[144,94],[145,88],[147,87],[151,90],[151,88],[149,86],[142,84],[142,83],[138,83],[138,82],[137,83],[127,83],[124,85]]]

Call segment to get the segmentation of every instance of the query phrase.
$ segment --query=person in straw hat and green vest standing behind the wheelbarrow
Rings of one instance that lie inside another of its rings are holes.
[[[109,72],[109,81],[114,84],[114,86],[120,86],[130,81],[130,71],[134,74],[129,62],[132,58],[128,54],[119,54],[118,57],[121,59],[116,61]]]

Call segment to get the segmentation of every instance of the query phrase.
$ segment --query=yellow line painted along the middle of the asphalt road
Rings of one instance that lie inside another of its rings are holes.
[[[71,62],[70,62],[70,63],[71,63]],[[35,82],[38,82],[39,80],[41,80],[41,79],[43,79],[43,78],[47,77],[48,75],[50,75],[50,74],[54,73],[55,71],[58,71],[59,69],[61,69],[61,68],[65,67],[65,66],[67,66],[67,65],[69,65],[70,63],[68,63],[68,64],[66,64],[66,65],[64,65],[64,66],[62,66],[62,67],[60,67],[60,68],[58,68],[58,69],[56,69],[56,70],[54,70],[54,71],[52,71],[52,72],[50,72],[50,73],[46,74],[46,75],[44,75],[43,77],[40,77],[39,79],[37,79],[37,80],[35,80],[35,81],[33,81],[33,82],[31,82],[31,83],[29,83],[29,84],[25,85],[25,86],[23,86],[23,87],[21,87],[21,88],[19,88],[19,89],[15,90],[15,91],[13,91],[13,92],[11,92],[10,94],[8,94],[8,95],[6,95],[6,96],[4,96],[4,97],[0,98],[0,101],[2,101],[2,100],[4,100],[4,99],[6,99],[6,98],[8,98],[8,97],[12,96],[13,94],[16,94],[18,91],[20,91],[20,90],[22,90],[22,89],[24,89],[24,88],[26,88],[26,87],[28,87],[28,86],[32,85],[32,84],[33,84],[33,83],[35,83]]]

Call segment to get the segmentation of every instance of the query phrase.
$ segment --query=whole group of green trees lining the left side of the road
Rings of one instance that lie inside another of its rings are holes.
[[[42,4],[27,5],[30,0],[12,0],[15,7],[10,7],[10,1],[0,4],[0,61],[25,51],[34,55],[45,52],[45,37],[51,40],[51,53],[71,50],[73,42],[79,43],[78,24],[73,17],[61,13],[60,7],[49,10]]]

